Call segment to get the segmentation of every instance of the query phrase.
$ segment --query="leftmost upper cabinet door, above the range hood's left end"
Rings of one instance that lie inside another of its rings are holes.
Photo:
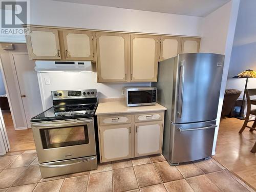
[[[57,29],[30,27],[26,41],[30,59],[61,59]]]

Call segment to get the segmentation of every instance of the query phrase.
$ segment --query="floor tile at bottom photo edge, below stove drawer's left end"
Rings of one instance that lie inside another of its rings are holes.
[[[58,192],[64,179],[38,183],[33,192]]]

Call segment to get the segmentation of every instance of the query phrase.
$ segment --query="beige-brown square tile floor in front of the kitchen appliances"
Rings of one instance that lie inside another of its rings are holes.
[[[4,191],[254,191],[214,159],[170,166],[162,155],[102,163],[97,170],[42,179],[36,152],[0,157]]]

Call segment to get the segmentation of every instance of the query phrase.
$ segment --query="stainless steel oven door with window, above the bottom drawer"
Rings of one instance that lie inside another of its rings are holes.
[[[31,125],[40,163],[96,155],[93,118]]]

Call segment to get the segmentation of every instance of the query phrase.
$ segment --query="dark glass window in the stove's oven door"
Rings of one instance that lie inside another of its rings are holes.
[[[40,135],[44,149],[89,143],[87,125],[41,129]]]

